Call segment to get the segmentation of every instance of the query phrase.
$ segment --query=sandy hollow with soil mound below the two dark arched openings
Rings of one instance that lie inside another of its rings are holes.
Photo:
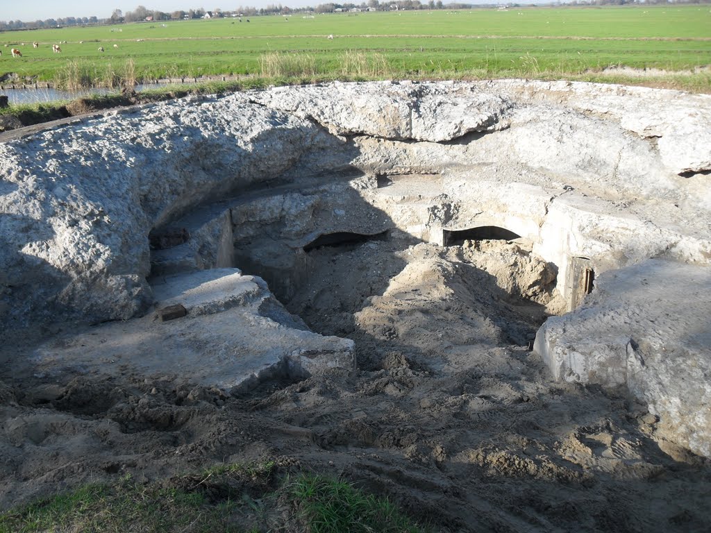
[[[277,298],[312,330],[355,340],[361,354],[363,343],[381,352],[407,345],[412,330],[439,327],[429,322],[446,323],[459,338],[482,345],[527,346],[562,299],[555,266],[532,254],[530,245],[506,240],[463,239],[441,247],[402,232],[339,232],[319,237],[304,251],[291,290],[277,291]],[[245,272],[270,276],[256,264]],[[387,316],[391,305],[399,308]],[[486,327],[474,332],[481,323]],[[434,337],[430,350],[440,338]]]

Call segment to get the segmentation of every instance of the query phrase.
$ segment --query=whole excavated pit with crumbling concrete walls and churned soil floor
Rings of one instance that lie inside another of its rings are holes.
[[[709,123],[383,82],[0,142],[0,507],[277,458],[442,532],[705,531]]]

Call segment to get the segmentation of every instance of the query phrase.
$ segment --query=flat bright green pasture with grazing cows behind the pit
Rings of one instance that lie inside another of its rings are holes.
[[[122,30],[119,32],[119,29]],[[333,34],[333,40],[326,36]],[[143,41],[137,42],[139,39]],[[41,43],[33,49],[32,41]],[[53,54],[51,45],[62,44]],[[80,43],[83,41],[83,43]],[[22,45],[21,43],[24,43]],[[114,44],[118,48],[114,48]],[[5,45],[7,45],[5,47]],[[101,53],[99,46],[105,48]],[[10,47],[23,58],[11,58]],[[711,64],[711,7],[512,8],[166,21],[0,33],[0,75],[60,80],[68,65],[130,68],[138,80],[262,75],[265,54],[308,58],[305,75],[352,78],[360,51],[380,77],[562,77],[610,66],[688,70]],[[104,72],[100,74],[97,72]],[[357,77],[357,76],[356,76]],[[377,77],[377,76],[376,76]],[[702,85],[709,83],[705,75]]]

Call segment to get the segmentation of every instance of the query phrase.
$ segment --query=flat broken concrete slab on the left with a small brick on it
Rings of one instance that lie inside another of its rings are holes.
[[[355,364],[352,340],[312,333],[262,279],[236,269],[170,277],[155,292],[164,298],[159,308],[182,306],[186,316],[164,323],[145,316],[58,335],[33,350],[33,372],[129,371],[237,392],[264,379],[301,379]]]

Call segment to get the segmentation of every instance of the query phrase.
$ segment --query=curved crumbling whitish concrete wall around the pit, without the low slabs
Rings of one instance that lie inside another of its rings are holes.
[[[156,275],[230,266],[235,209],[193,224],[176,249],[151,254],[149,232],[214,200],[243,205],[242,191],[260,183],[299,190],[307,181],[309,201],[331,205],[310,228],[292,218],[303,226],[294,243],[367,226],[326,198],[343,187],[322,188],[343,185],[348,168],[436,175],[439,193],[417,198],[361,182],[355,211],[383,210],[391,227],[433,241],[442,229],[507,227],[557,266],[563,291],[578,255],[596,271],[656,254],[707,262],[707,178],[678,173],[707,168],[710,102],[590,84],[336,83],[141,106],[40,131],[0,144],[0,313],[11,328],[137,316],[152,299],[151,260]],[[289,209],[262,203],[272,210],[263,220]],[[348,216],[324,215],[333,209]]]

